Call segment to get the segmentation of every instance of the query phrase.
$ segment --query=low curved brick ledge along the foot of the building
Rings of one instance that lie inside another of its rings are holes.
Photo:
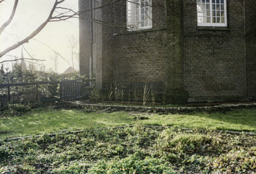
[[[76,107],[98,107],[100,109],[118,109],[123,111],[156,111],[172,113],[175,111],[205,111],[205,110],[218,110],[218,109],[234,109],[234,108],[256,108],[256,103],[252,104],[227,104],[219,106],[200,106],[200,107],[142,107],[142,106],[113,106],[113,105],[101,105],[101,104],[81,104],[77,102],[61,100],[65,104]]]

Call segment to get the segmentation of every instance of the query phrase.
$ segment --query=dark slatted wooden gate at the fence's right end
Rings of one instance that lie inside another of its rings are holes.
[[[82,97],[81,79],[63,80],[60,82],[60,99],[77,100]]]

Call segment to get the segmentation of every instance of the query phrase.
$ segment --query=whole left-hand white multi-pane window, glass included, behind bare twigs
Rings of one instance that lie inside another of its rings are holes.
[[[127,1],[127,28],[131,31],[152,28],[152,0]]]

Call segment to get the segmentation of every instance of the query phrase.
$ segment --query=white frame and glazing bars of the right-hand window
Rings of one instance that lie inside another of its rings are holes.
[[[217,1],[217,0],[215,0]],[[206,2],[206,0],[205,0]],[[198,0],[196,0],[196,19],[197,19],[197,26],[211,26],[211,27],[227,27],[227,0],[224,0],[224,20],[225,22],[224,23],[214,23],[212,22],[212,0],[209,1],[210,3],[210,19],[211,19],[211,22],[199,22],[199,15],[198,15]],[[206,3],[205,3],[206,4]],[[216,3],[215,3],[216,4]],[[217,10],[216,10],[217,12]],[[221,12],[221,10],[220,10]],[[220,18],[221,18],[221,15],[220,15]]]

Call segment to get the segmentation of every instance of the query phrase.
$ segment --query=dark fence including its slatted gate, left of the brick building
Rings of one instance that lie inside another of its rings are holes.
[[[76,100],[82,97],[81,79],[0,84],[0,104]]]

